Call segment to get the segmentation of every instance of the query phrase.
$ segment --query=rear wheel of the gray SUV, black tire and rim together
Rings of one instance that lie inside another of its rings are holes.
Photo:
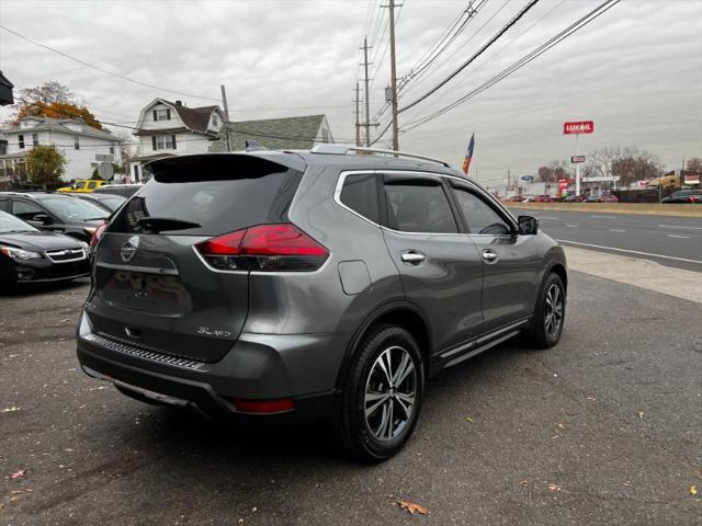
[[[423,385],[423,361],[412,335],[393,324],[372,328],[343,385],[335,422],[338,445],[363,461],[395,455],[417,424]]]

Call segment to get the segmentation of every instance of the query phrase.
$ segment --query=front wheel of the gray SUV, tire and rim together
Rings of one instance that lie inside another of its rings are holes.
[[[526,338],[537,348],[553,347],[561,340],[566,319],[566,289],[561,276],[551,273],[544,279],[536,310]]]

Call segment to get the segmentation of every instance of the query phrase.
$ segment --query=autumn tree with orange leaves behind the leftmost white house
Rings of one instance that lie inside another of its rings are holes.
[[[75,93],[56,81],[20,90],[16,100],[16,112],[10,121],[12,125],[18,125],[27,117],[82,118],[88,126],[103,129],[97,117]]]

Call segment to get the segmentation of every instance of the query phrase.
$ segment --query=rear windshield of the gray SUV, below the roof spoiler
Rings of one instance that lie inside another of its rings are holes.
[[[109,231],[149,232],[139,225],[139,219],[147,217],[181,221],[178,228],[159,231],[183,236],[220,236],[253,225],[282,222],[301,178],[296,170],[260,159],[173,162],[155,171],[151,181],[120,210]]]

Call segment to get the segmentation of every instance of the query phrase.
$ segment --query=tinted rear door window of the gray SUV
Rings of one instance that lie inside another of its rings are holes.
[[[432,180],[386,181],[387,222],[405,232],[453,233],[458,231],[441,184]]]

